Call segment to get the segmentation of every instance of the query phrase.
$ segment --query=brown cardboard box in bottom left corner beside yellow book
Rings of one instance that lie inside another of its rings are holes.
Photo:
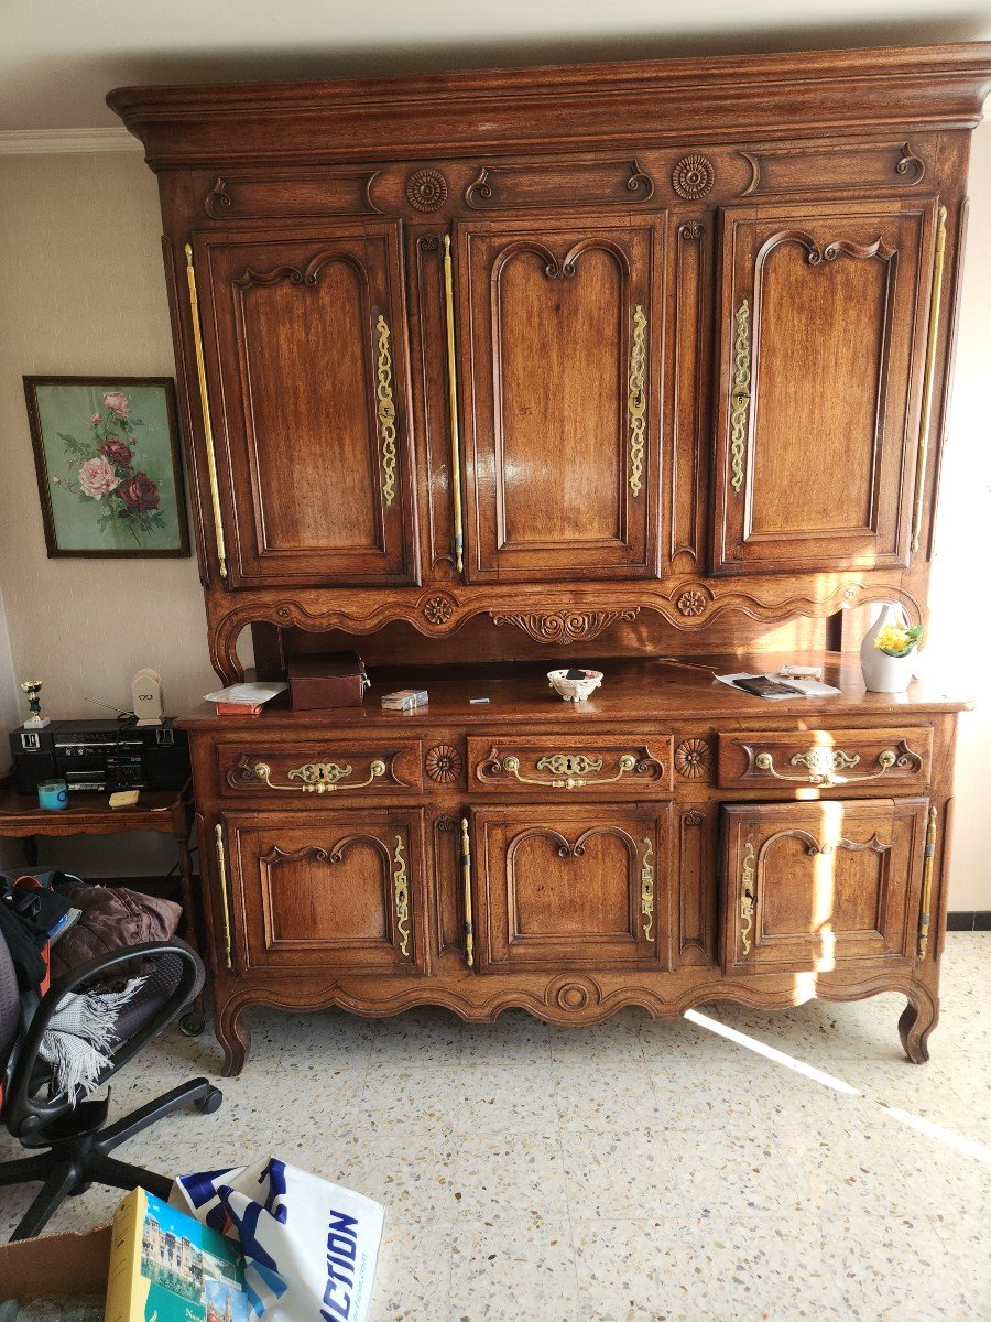
[[[104,1294],[110,1269],[112,1227],[66,1231],[40,1239],[0,1244],[0,1300],[65,1298]]]

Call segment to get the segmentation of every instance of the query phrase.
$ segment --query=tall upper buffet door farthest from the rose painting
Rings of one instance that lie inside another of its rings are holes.
[[[716,572],[908,564],[934,208],[723,213]]]

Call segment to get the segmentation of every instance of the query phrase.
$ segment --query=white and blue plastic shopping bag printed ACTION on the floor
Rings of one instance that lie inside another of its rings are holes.
[[[239,1240],[258,1318],[367,1318],[386,1219],[381,1203],[275,1158],[180,1175],[169,1202]]]

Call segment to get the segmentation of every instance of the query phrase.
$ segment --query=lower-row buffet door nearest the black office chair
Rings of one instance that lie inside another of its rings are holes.
[[[423,812],[225,813],[240,969],[423,972]]]

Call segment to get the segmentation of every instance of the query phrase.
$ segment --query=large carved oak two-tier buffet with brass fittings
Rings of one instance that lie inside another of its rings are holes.
[[[884,989],[925,1059],[961,705],[675,662],[925,620],[990,86],[958,45],[111,94],[218,674],[250,627],[266,677],[349,644],[429,676],[414,717],[189,719],[230,1069],[252,1002]],[[538,677],[589,656],[571,710]]]

